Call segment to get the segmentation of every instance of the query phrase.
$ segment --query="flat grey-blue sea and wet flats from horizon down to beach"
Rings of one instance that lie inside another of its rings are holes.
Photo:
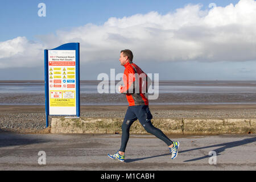
[[[99,93],[98,80],[80,81],[81,105],[127,105],[125,94]],[[255,81],[225,80],[160,80],[153,82],[150,104],[154,105],[212,105],[256,104]],[[44,81],[0,81],[0,105],[44,105]]]

